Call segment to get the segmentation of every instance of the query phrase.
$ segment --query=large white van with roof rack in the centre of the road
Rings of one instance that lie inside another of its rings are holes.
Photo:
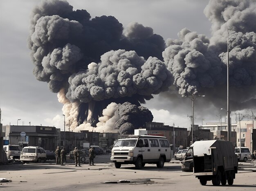
[[[140,169],[146,163],[162,168],[164,162],[171,161],[171,147],[166,137],[131,135],[117,140],[110,160],[115,162],[116,168],[123,164],[133,164],[136,169]]]

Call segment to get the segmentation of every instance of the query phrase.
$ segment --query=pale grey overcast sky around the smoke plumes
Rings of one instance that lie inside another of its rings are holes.
[[[36,80],[27,48],[29,17],[39,0],[0,1],[0,108],[3,125],[55,126],[63,130],[63,104],[57,94],[49,91],[47,83]],[[68,0],[76,9],[85,9],[91,17],[112,15],[124,27],[138,22],[153,28],[154,33],[167,38],[177,38],[177,33],[188,28],[198,34],[211,36],[211,23],[203,10],[207,0]],[[189,127],[192,101],[189,98],[169,100],[164,94],[146,103],[154,116],[153,121],[166,125]],[[195,101],[195,124],[219,121],[224,111]],[[179,101],[177,101],[179,100]],[[226,108],[226,105],[223,105]],[[243,112],[243,111],[242,111]],[[245,111],[244,111],[245,112]],[[248,111],[246,111],[248,112]],[[244,113],[246,114],[246,113]],[[250,114],[250,113],[249,113]],[[235,119],[234,115],[231,115]],[[204,119],[204,121],[203,121]],[[232,121],[233,122],[233,121]]]

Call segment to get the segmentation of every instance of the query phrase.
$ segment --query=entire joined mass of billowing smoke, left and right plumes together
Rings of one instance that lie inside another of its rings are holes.
[[[256,2],[210,0],[204,14],[212,37],[185,28],[165,44],[137,22],[124,29],[112,16],[91,19],[66,1],[43,1],[33,10],[28,40],[34,75],[58,92],[72,129],[132,133],[152,121],[140,103],[171,84],[182,97],[205,94],[218,108],[226,104],[232,28],[231,109],[255,107]]]

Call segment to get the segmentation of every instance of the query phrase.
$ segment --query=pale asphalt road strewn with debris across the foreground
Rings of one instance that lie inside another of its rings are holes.
[[[154,164],[146,164],[141,169],[135,169],[134,165],[122,165],[120,169],[116,169],[110,162],[110,155],[97,155],[95,166],[81,164],[81,167],[74,167],[74,161],[67,162],[69,163],[65,163],[65,166],[55,165],[54,160],[46,163],[1,165],[0,178],[12,182],[1,182],[0,190],[256,190],[256,167],[250,162],[240,162],[239,171],[231,186],[213,186],[211,181],[202,186],[193,172],[180,170],[181,164],[177,160],[165,163],[162,169]]]

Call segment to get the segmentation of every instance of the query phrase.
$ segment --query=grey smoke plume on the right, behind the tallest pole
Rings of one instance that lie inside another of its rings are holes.
[[[200,92],[215,105],[223,106],[227,95],[227,29],[232,28],[229,30],[231,108],[243,109],[248,104],[255,107],[256,2],[210,0],[204,13],[212,22],[210,39],[182,29],[179,40],[167,40],[163,57],[174,76],[174,84],[183,97]]]

